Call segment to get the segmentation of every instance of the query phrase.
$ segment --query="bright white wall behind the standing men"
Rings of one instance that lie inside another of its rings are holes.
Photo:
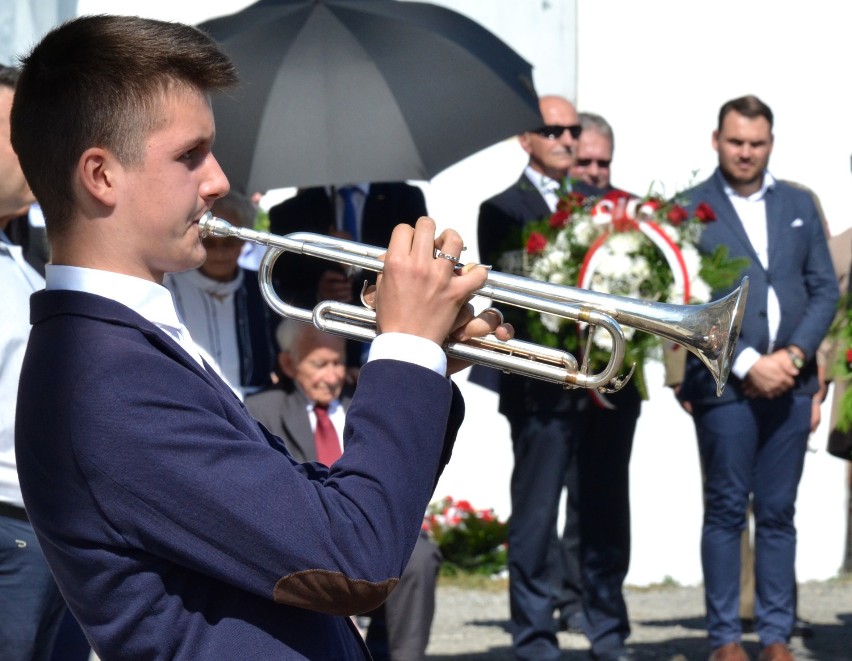
[[[141,13],[197,23],[245,0],[79,0],[80,13]],[[614,125],[615,182],[641,192],[652,180],[670,192],[715,165],[710,133],[719,106],[756,93],[776,114],[771,168],[820,195],[835,232],[852,224],[849,190],[852,89],[846,80],[852,7],[814,0],[441,0],[497,33],[535,66],[540,93],[575,99]],[[574,41],[574,27],[577,40]],[[575,74],[576,73],[576,77]],[[476,121],[476,118],[470,118]],[[514,181],[524,164],[512,140],[423,184],[430,213],[475,248],[479,203]],[[471,257],[473,253],[468,253]],[[649,380],[661,383],[659,371]],[[511,450],[496,398],[461,382],[468,417],[438,496],[509,513]],[[827,407],[825,407],[827,416]],[[797,523],[800,580],[834,575],[845,534],[846,465],[811,439]],[[686,415],[661,386],[643,409],[631,463],[633,562],[628,582],[701,581],[700,476]]]

